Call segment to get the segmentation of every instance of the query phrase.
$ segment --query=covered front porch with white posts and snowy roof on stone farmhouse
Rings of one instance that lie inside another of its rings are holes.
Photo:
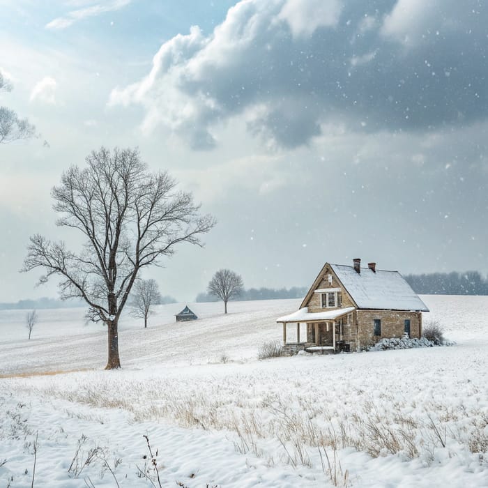
[[[335,352],[347,349],[343,340],[343,322],[354,307],[310,313],[307,307],[277,319],[283,327],[283,344],[290,353]]]

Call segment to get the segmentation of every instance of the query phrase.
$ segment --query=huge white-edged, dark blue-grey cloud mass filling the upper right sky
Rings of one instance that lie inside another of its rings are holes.
[[[233,117],[272,148],[308,144],[330,121],[372,132],[432,130],[459,123],[460,112],[475,120],[485,116],[471,96],[486,92],[482,51],[463,53],[485,38],[486,16],[473,20],[464,4],[443,2],[399,0],[372,12],[353,1],[243,0],[212,33],[194,26],[164,43],[148,75],[113,89],[108,103],[144,107],[142,132],[162,127],[198,149],[213,148]],[[464,32],[462,44],[458,35],[438,35],[438,24]],[[468,25],[475,35],[466,34]],[[326,36],[314,35],[320,28]],[[422,40],[418,49],[404,49],[411,38]],[[450,71],[462,66],[457,83],[436,75],[445,53]],[[435,70],[424,69],[427,56]],[[424,101],[412,104],[419,92]]]

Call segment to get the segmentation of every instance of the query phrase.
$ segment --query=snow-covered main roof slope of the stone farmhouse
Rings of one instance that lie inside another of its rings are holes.
[[[361,272],[356,273],[353,266],[331,264],[330,267],[358,308],[429,312],[397,271],[376,270],[375,273],[369,268],[360,268]]]

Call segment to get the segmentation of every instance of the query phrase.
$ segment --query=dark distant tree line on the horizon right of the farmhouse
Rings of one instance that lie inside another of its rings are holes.
[[[488,295],[488,278],[478,271],[406,275],[405,280],[423,295]]]

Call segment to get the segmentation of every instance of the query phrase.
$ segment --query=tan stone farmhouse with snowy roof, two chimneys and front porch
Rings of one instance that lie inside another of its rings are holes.
[[[300,305],[277,319],[284,349],[359,351],[383,337],[422,337],[425,303],[397,271],[326,263]]]

